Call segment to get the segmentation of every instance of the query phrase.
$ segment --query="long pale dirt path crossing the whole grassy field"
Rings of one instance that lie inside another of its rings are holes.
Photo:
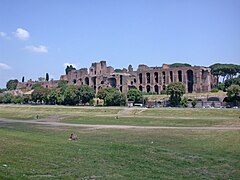
[[[97,129],[240,130],[240,126],[211,126],[211,127],[128,126],[128,125],[69,124],[52,121],[13,120],[0,118],[0,126],[2,123],[30,123],[49,126],[87,127]]]

